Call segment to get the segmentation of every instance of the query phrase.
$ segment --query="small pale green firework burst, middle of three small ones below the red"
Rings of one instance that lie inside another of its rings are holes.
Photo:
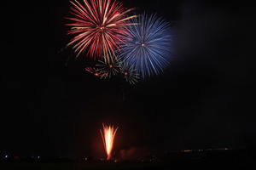
[[[99,64],[96,65],[99,68],[99,71],[104,72],[104,75],[102,77],[104,78],[111,78],[113,76],[116,76],[119,71],[119,61],[116,59],[116,57],[111,57],[112,60],[109,62],[103,62],[102,60],[98,60]]]

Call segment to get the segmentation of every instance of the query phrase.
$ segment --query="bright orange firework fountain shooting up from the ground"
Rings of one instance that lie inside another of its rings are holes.
[[[113,149],[113,139],[114,139],[114,135],[116,133],[116,131],[118,130],[119,127],[117,127],[116,129],[114,129],[114,127],[112,126],[107,126],[104,125],[104,123],[102,123],[102,127],[103,127],[103,133],[102,130],[100,129],[101,133],[102,133],[102,140],[103,140],[103,144],[106,150],[106,153],[108,155],[108,160],[111,158],[111,151]]]

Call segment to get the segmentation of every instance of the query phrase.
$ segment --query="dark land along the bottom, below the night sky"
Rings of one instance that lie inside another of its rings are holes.
[[[60,160],[7,160],[0,161],[0,170],[254,170],[256,169],[256,152],[240,150],[211,153],[172,154],[162,161],[60,161]]]

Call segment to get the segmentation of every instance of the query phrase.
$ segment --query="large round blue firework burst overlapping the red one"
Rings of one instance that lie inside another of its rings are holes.
[[[126,42],[120,46],[119,59],[134,65],[144,78],[158,75],[168,65],[170,59],[169,24],[154,15],[142,14],[131,20]]]

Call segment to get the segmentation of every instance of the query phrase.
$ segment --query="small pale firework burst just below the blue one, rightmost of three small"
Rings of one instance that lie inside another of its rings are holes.
[[[120,71],[124,75],[126,82],[135,84],[139,77],[136,69],[132,65],[127,65],[125,62],[120,62]]]

